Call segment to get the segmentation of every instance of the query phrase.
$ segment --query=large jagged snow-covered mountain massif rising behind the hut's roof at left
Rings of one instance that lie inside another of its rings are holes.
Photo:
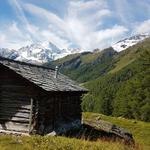
[[[51,42],[38,42],[18,50],[0,49],[0,56],[30,62],[30,63],[46,63],[66,55],[80,52],[80,49],[59,49]]]

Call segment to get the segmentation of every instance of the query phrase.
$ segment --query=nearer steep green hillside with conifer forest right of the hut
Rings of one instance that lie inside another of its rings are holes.
[[[150,121],[150,39],[120,53],[116,67],[84,84],[84,111]]]

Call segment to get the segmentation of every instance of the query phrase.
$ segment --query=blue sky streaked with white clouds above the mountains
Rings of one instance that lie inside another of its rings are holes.
[[[93,50],[150,32],[150,0],[0,0],[0,47]]]

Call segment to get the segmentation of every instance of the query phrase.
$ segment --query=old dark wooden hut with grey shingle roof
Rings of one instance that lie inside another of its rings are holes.
[[[85,92],[57,70],[0,57],[0,131],[46,134],[80,124]]]

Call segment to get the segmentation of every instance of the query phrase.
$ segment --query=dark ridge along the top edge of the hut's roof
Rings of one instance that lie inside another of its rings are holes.
[[[38,64],[32,64],[32,63],[27,63],[27,62],[23,62],[23,61],[18,61],[18,60],[13,60],[10,58],[5,58],[0,56],[0,60],[7,60],[10,62],[15,62],[15,63],[19,63],[21,65],[27,65],[27,66],[32,66],[32,67],[38,67],[38,68],[43,68],[43,69],[48,69],[48,70],[55,70],[54,68],[50,68],[50,67],[46,67],[46,66],[42,66],[42,65],[38,65]]]

